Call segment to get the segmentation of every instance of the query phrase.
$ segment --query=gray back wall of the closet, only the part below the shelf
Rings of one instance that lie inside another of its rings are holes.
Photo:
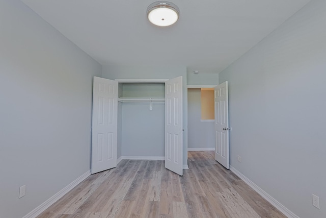
[[[122,103],[122,156],[165,156],[165,104]]]

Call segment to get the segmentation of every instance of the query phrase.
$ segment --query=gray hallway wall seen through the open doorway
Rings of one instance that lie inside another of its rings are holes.
[[[188,88],[188,149],[214,148],[214,122],[201,122],[200,88]]]

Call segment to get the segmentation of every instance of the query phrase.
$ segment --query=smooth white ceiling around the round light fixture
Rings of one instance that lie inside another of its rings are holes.
[[[219,73],[310,0],[170,0],[171,27],[146,17],[155,0],[21,0],[102,65],[183,65]]]

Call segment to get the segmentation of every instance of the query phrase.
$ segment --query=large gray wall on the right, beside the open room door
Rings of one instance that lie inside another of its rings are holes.
[[[300,217],[326,217],[325,11],[311,1],[220,73],[231,165]]]

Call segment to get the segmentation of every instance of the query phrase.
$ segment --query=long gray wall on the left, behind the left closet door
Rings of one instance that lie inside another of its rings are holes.
[[[22,217],[89,171],[101,66],[18,0],[0,30],[0,217]]]

